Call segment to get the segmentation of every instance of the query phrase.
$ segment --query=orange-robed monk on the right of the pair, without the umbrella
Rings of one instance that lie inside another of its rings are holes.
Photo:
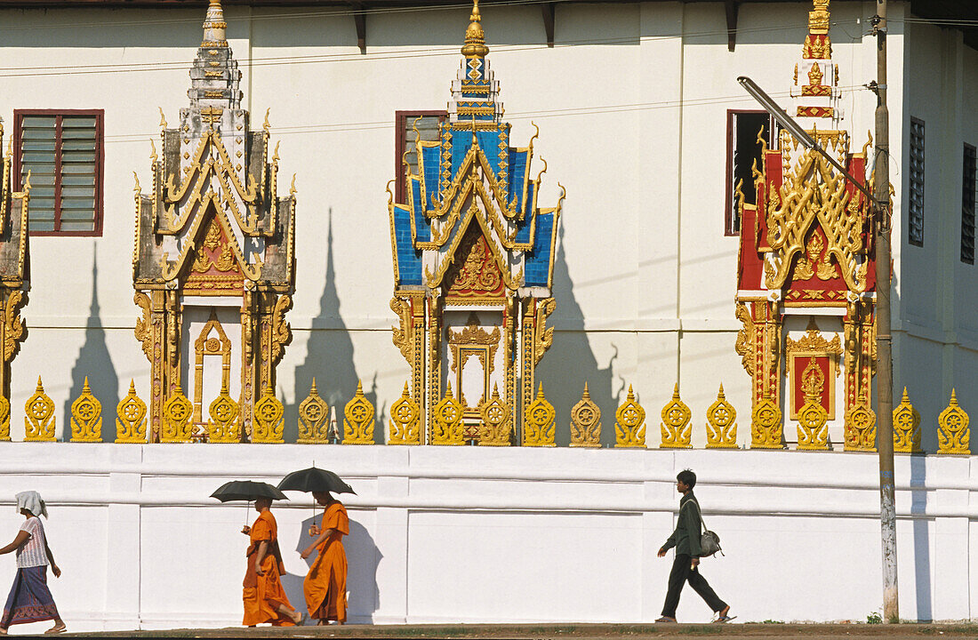
[[[350,533],[350,520],[346,507],[333,498],[329,491],[313,491],[316,501],[326,507],[323,513],[323,526],[315,524],[309,534],[316,536],[312,544],[302,552],[305,560],[319,549],[319,555],[312,563],[302,588],[305,591],[306,607],[309,617],[318,619],[318,624],[336,620],[346,622],[346,551],[343,550],[343,536]]]

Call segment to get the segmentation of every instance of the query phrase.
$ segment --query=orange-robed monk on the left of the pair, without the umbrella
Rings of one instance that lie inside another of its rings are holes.
[[[247,548],[247,571],[244,573],[244,621],[247,626],[271,622],[274,626],[295,626],[302,615],[292,609],[281,576],[286,572],[279,551],[279,526],[270,507],[272,500],[254,500],[258,518],[242,533],[250,536]]]

